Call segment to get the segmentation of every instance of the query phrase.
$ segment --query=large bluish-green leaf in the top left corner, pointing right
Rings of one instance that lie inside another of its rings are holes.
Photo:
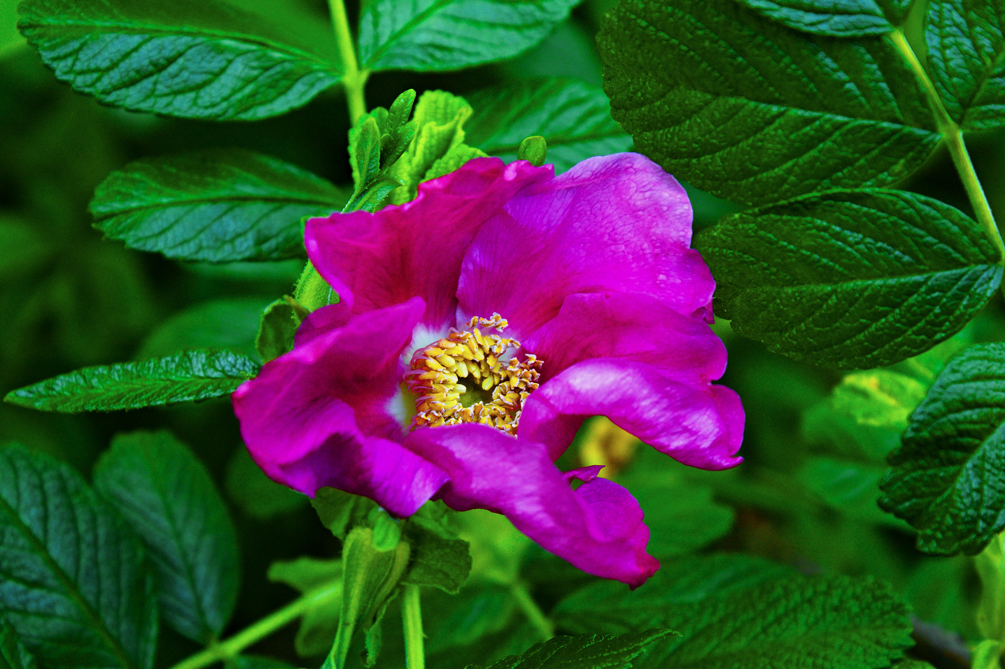
[[[227,3],[26,0],[18,27],[60,81],[106,104],[251,120],[307,103],[341,66]]]

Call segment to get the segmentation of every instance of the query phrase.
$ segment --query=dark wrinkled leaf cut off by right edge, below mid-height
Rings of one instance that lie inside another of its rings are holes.
[[[936,555],[979,553],[1005,528],[1005,344],[953,358],[911,416],[879,505]]]

